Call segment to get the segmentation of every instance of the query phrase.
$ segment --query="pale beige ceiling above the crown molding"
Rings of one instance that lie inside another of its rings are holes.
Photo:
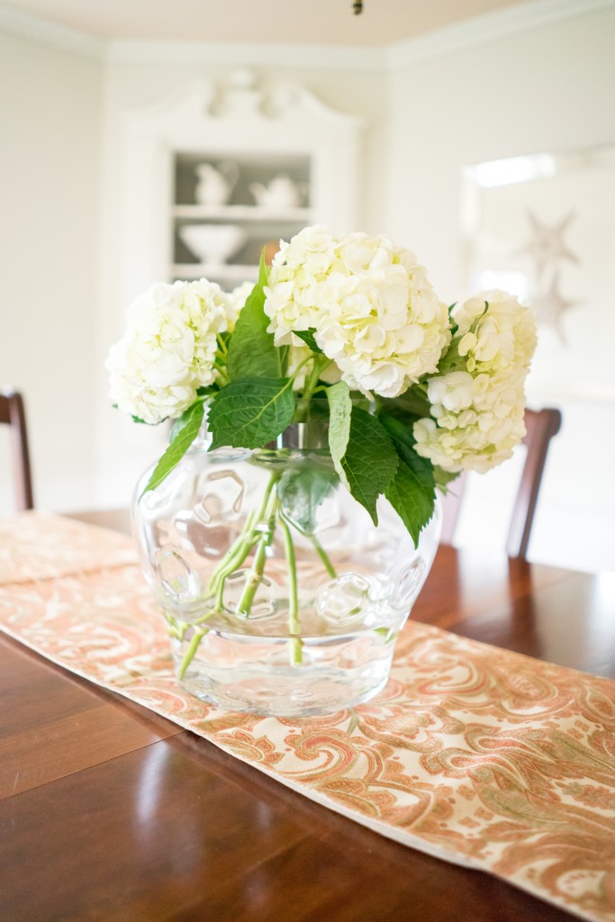
[[[9,0],[101,40],[267,42],[385,48],[519,0]]]

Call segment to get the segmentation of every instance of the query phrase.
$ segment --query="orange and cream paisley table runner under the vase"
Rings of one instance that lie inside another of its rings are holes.
[[[378,833],[615,922],[615,682],[409,621],[370,703],[222,711],[175,680],[129,539],[40,513],[0,521],[0,626]]]

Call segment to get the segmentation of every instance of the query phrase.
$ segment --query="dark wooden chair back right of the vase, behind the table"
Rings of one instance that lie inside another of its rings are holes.
[[[547,461],[550,440],[560,431],[561,426],[562,413],[559,409],[526,409],[526,436],[523,440],[526,446],[526,460],[514,497],[513,514],[508,526],[506,553],[509,557],[525,558],[527,556],[529,537],[538,503],[538,491]],[[444,544],[453,544],[466,480],[467,474],[465,473],[454,480],[450,491],[444,497],[442,533]]]

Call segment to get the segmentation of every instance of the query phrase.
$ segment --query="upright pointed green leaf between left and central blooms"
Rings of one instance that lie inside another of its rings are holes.
[[[277,378],[282,373],[282,354],[274,345],[273,333],[267,333],[266,283],[267,268],[261,254],[258,281],[239,313],[229,340],[227,371],[231,381],[247,377]]]

